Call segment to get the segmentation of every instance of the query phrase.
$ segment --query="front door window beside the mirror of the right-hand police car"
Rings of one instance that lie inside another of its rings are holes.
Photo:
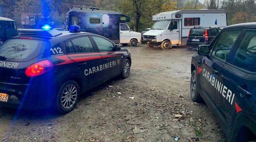
[[[226,61],[240,31],[241,30],[226,30],[222,32],[214,44],[212,55]]]

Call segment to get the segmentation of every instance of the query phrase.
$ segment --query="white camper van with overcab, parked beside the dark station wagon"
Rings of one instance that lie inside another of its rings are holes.
[[[176,10],[153,15],[154,24],[143,34],[148,47],[185,46],[189,30],[194,27],[227,26],[225,10]]]

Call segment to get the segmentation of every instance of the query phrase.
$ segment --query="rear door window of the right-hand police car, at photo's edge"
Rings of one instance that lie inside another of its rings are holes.
[[[256,31],[247,31],[240,43],[234,59],[234,66],[256,72]]]

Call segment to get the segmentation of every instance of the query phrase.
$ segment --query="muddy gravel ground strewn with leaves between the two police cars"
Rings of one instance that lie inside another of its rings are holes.
[[[195,51],[182,47],[164,51],[145,45],[125,48],[132,55],[130,76],[114,78],[87,92],[76,109],[66,115],[0,107],[0,140],[226,141],[208,107],[190,100],[190,61]]]

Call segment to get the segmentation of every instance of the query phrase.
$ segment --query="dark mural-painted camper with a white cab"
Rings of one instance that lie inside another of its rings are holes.
[[[129,25],[130,17],[120,12],[86,8],[72,8],[67,12],[65,29],[79,25],[81,31],[99,34],[116,44],[137,46],[141,40],[139,32],[133,32]]]

